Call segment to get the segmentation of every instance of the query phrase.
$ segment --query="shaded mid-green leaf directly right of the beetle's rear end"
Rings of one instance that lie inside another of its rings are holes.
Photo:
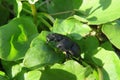
[[[79,45],[81,48],[81,52],[83,52],[83,57],[84,57],[84,61],[86,61],[87,63],[90,63],[92,65],[96,65],[92,58],[93,56],[97,53],[97,48],[99,46],[99,41],[96,37],[93,36],[88,36],[86,38],[82,38],[79,41]],[[95,59],[95,58],[94,58]],[[96,61],[99,62],[99,66],[102,66],[100,60],[95,59]]]

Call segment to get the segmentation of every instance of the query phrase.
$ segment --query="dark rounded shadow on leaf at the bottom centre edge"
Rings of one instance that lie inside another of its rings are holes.
[[[48,69],[42,71],[40,80],[77,80],[72,73],[61,69]]]

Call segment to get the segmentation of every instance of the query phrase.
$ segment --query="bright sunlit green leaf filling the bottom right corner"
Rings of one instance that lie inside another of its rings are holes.
[[[106,45],[106,47],[108,47]],[[98,48],[97,54],[94,56],[103,63],[102,77],[104,80],[120,80],[120,59],[112,50]]]

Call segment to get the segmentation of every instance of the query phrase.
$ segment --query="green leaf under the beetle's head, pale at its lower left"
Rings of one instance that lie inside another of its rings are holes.
[[[56,53],[54,49],[46,43],[47,34],[48,32],[43,31],[33,39],[30,49],[27,51],[23,61],[25,67],[41,67],[64,60],[63,54]]]

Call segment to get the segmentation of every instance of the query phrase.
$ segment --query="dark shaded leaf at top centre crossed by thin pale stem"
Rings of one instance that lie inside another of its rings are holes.
[[[81,3],[82,0],[52,0],[48,5],[48,11],[54,17],[67,18],[74,14],[75,9],[79,9]]]

